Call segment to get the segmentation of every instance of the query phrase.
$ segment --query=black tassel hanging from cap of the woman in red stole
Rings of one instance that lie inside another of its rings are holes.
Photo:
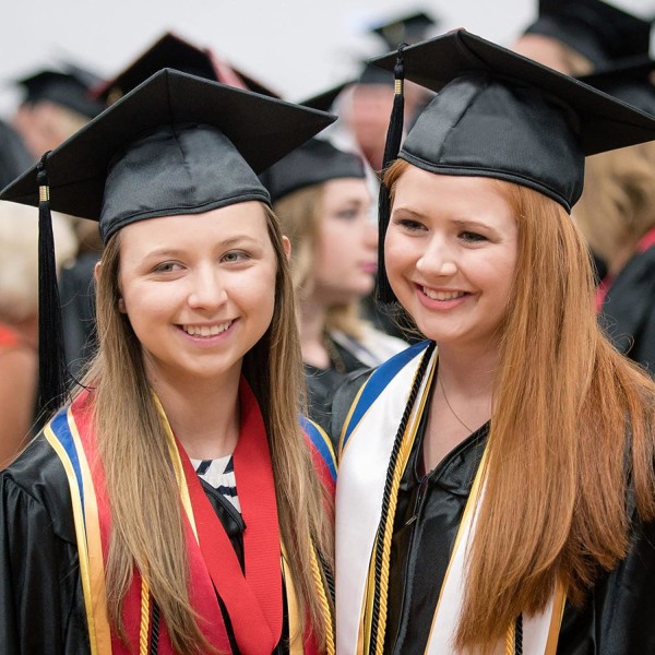
[[[47,152],[37,166],[38,183],[38,416],[46,418],[66,402],[67,373],[55,237],[50,215]]]

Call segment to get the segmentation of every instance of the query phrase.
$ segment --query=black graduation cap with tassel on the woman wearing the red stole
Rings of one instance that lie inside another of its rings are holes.
[[[39,206],[40,406],[66,397],[50,207],[99,221],[107,240],[138,221],[270,203],[257,174],[333,120],[164,69],[7,187],[0,200]]]

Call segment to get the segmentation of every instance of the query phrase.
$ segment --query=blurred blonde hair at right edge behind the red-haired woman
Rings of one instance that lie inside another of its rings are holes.
[[[634,250],[655,227],[655,143],[588,157],[573,215],[592,249],[608,263]]]

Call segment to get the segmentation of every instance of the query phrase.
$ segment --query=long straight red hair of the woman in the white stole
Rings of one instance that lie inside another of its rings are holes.
[[[406,166],[391,167],[390,189]],[[583,603],[627,555],[632,490],[639,517],[655,516],[655,383],[600,332],[586,243],[563,209],[497,183],[515,212],[517,261],[456,638],[483,651],[543,610],[556,581]]]

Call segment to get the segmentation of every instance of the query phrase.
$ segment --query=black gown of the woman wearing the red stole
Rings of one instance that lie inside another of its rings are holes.
[[[201,483],[243,565],[241,516]],[[223,603],[221,608],[238,653]],[[274,655],[288,653],[287,640],[285,602],[283,634]],[[0,652],[91,653],[69,485],[43,436],[0,472]]]

